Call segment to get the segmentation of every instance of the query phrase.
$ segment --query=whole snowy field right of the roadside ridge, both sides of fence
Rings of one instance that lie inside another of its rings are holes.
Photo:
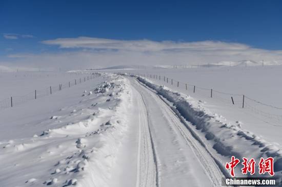
[[[207,109],[230,123],[239,122],[245,129],[263,135],[268,141],[282,142],[282,87],[279,86],[282,66],[131,69],[115,72],[143,74],[155,83],[204,101]]]

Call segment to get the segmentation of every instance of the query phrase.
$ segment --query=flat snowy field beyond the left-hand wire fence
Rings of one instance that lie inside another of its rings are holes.
[[[90,74],[64,73],[64,72],[18,72],[0,73],[0,109],[11,107],[13,104],[27,102],[36,97],[45,97],[60,89],[84,82]]]

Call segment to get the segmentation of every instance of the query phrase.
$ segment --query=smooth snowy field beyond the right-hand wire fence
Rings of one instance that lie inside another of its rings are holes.
[[[233,95],[245,94],[255,100],[274,106],[282,106],[282,65],[279,66],[239,66],[239,67],[199,67],[199,68],[156,68],[116,70],[112,72],[131,72],[165,76],[166,78],[213,88]],[[163,80],[162,80],[163,81]],[[169,82],[171,83],[171,82]],[[177,82],[176,82],[177,83]],[[183,85],[182,85],[183,87]],[[282,108],[282,107],[281,107]]]

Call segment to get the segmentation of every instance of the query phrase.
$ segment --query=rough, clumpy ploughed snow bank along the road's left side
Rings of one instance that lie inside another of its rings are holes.
[[[0,185],[109,186],[132,107],[127,80],[109,77],[77,105],[49,116],[41,134],[1,141]],[[54,122],[66,125],[52,128]]]

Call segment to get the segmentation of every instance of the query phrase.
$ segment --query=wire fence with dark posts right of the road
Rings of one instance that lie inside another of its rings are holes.
[[[263,116],[263,119],[261,120],[263,120],[264,122],[273,126],[282,127],[281,107],[262,103],[243,94],[227,93],[223,91],[214,90],[212,88],[199,87],[196,85],[191,85],[189,83],[180,82],[175,79],[168,78],[166,76],[152,74],[134,75],[154,80],[154,82],[166,85],[167,87],[177,87],[177,90],[180,90],[184,93],[188,93],[189,95],[195,95],[200,98],[205,98],[205,100],[216,101],[229,107],[236,107],[238,109],[242,109],[242,111],[249,112],[250,114],[256,115],[258,117]]]

